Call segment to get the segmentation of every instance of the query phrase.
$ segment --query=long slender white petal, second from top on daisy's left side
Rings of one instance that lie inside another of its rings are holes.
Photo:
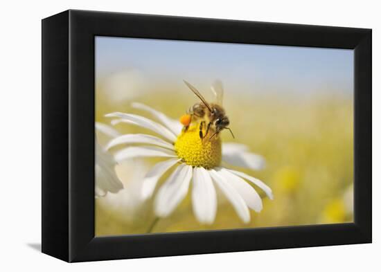
[[[172,143],[174,143],[176,140],[175,134],[170,132],[169,129],[143,116],[138,116],[136,114],[123,114],[121,112],[114,112],[112,114],[106,114],[105,116],[121,118],[123,120],[127,120],[128,123],[133,122],[136,125],[144,127],[146,129],[150,129],[152,130],[152,132],[160,134],[161,136],[170,140]]]

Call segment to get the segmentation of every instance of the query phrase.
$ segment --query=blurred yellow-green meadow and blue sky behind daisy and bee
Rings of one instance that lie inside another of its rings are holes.
[[[218,194],[215,222],[205,226],[195,219],[188,193],[153,233],[353,221],[352,51],[96,37],[96,122],[109,124],[104,116],[114,111],[147,116],[131,102],[177,119],[198,102],[183,79],[206,100],[213,100],[213,80],[222,80],[236,136],[222,132],[222,139],[265,158],[263,170],[238,170],[267,183],[274,200],[256,188],[263,210],[251,211],[251,222],[243,224]],[[127,124],[115,129],[145,132]],[[147,232],[154,221],[152,199],[139,201],[136,188],[155,162],[117,166],[125,189],[96,198],[96,235]]]

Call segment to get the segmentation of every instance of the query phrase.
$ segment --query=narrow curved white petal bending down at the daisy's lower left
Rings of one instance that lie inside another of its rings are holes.
[[[162,161],[161,163],[154,165],[154,167],[152,167],[152,169],[147,174],[145,174],[141,187],[142,199],[148,199],[152,196],[157,181],[159,181],[161,176],[163,176],[163,174],[167,172],[170,167],[179,161],[180,159],[177,158],[172,158],[168,161]]]

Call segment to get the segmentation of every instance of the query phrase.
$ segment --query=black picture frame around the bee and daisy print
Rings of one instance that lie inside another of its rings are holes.
[[[354,222],[94,237],[94,37],[354,50]],[[67,10],[42,20],[42,252],[67,262],[370,243],[371,29]]]

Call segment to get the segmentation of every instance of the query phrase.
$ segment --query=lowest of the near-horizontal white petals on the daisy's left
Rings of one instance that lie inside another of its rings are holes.
[[[115,160],[117,162],[125,161],[129,158],[143,158],[143,157],[177,157],[175,152],[162,147],[127,147],[116,152]]]

